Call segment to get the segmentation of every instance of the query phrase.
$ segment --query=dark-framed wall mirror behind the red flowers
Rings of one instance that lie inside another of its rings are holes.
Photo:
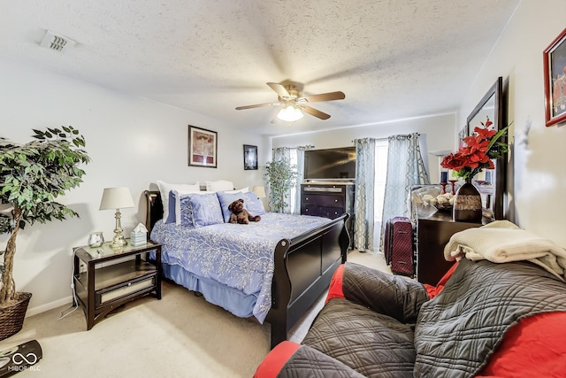
[[[487,118],[493,122],[490,128],[500,130],[505,127],[503,101],[503,79],[499,77],[492,88],[479,101],[466,119],[468,135],[472,135],[474,127],[482,127]],[[507,142],[507,135],[501,136],[501,142]],[[484,169],[477,174],[474,180],[482,197],[485,213],[495,220],[504,219],[505,205],[504,196],[506,192],[507,177],[507,153],[501,158],[493,159],[494,169]]]

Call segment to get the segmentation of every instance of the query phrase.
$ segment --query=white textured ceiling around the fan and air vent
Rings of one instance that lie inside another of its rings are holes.
[[[454,112],[519,0],[7,0],[0,54],[264,135]],[[39,46],[46,30],[77,44]],[[267,81],[341,90],[271,124]],[[187,120],[189,123],[190,120]],[[214,128],[214,125],[199,125]]]

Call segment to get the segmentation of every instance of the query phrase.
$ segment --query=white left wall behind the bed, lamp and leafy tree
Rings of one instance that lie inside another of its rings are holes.
[[[72,125],[85,136],[92,158],[80,188],[60,198],[80,219],[37,224],[19,234],[14,273],[17,289],[33,293],[28,316],[70,303],[73,247],[85,245],[88,233],[101,230],[111,240],[114,212],[98,210],[103,188],[131,190],[136,207],[122,211],[127,236],[145,220],[143,190],[156,180],[226,179],[236,188],[263,183],[261,169],[243,170],[243,144],[257,145],[264,165],[269,141],[259,135],[9,57],[0,59],[0,82],[0,136],[26,143],[32,128]],[[187,166],[189,124],[218,132],[218,169]],[[0,235],[2,248],[6,240]]]

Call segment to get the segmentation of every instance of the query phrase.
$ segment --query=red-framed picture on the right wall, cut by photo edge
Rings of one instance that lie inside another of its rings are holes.
[[[547,126],[566,120],[566,29],[543,52]]]

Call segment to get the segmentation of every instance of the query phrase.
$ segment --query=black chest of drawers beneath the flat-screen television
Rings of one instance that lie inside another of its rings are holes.
[[[301,214],[330,219],[344,212],[350,217],[346,228],[350,246],[354,241],[354,188],[353,182],[306,182],[301,185]]]

